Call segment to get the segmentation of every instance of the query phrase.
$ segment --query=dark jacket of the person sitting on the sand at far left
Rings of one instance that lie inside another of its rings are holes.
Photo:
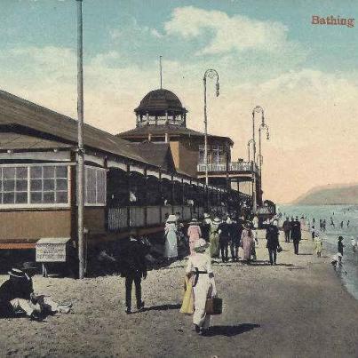
[[[10,301],[14,298],[30,299],[34,292],[31,277],[23,275],[21,278],[9,278],[0,286],[0,316],[12,314]]]

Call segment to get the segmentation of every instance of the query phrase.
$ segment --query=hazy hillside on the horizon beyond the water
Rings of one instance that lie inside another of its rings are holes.
[[[358,184],[314,187],[296,199],[299,205],[358,204]]]

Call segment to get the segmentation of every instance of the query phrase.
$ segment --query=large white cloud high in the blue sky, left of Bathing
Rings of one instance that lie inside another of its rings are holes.
[[[211,42],[198,52],[201,54],[247,49],[274,52],[287,43],[288,31],[280,22],[254,20],[242,15],[229,17],[226,12],[194,6],[176,8],[164,29],[168,35],[187,39],[209,32]]]

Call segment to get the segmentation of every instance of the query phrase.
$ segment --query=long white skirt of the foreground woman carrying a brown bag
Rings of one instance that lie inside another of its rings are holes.
[[[207,330],[210,325],[210,314],[206,314],[206,298],[211,297],[212,285],[208,274],[199,274],[198,281],[194,287],[193,323]]]

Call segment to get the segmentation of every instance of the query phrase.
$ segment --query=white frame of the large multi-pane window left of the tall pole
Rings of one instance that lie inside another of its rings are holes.
[[[15,163],[15,164],[0,164],[0,168],[27,168],[28,169],[28,203],[0,203],[0,210],[6,209],[68,209],[71,206],[71,180],[70,180],[70,166],[73,163]],[[30,168],[34,166],[65,166],[68,168],[68,203],[30,203],[31,185],[30,185]],[[4,185],[4,184],[3,184]]]

